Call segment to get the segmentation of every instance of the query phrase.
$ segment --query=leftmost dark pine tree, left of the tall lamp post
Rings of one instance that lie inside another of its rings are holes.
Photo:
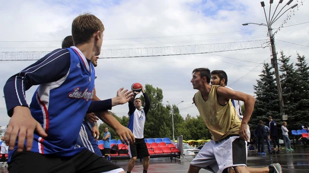
[[[256,80],[257,85],[253,85],[256,102],[249,122],[251,134],[259,120],[268,123],[268,116],[271,116],[275,121],[281,119],[274,71],[271,71],[269,64],[263,64],[259,77],[259,80]]]

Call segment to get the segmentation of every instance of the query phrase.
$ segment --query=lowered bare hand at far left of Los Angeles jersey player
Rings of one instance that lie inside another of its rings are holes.
[[[5,143],[9,147],[9,150],[13,150],[16,139],[18,138],[17,152],[22,152],[24,140],[26,139],[26,150],[30,151],[33,143],[34,130],[42,138],[47,137],[47,134],[42,126],[31,116],[29,108],[16,106],[13,111],[14,113],[7,125]]]

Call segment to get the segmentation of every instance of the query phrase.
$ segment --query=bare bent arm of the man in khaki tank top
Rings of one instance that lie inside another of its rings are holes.
[[[228,89],[226,87],[218,87],[217,88],[217,97],[218,100],[241,100],[244,103],[244,115],[241,120],[241,126],[239,130],[239,137],[243,140],[247,140],[246,136],[246,129],[247,124],[250,120],[250,117],[253,112],[254,104],[255,104],[255,98],[251,95],[239,92],[239,91],[233,91],[231,89]]]

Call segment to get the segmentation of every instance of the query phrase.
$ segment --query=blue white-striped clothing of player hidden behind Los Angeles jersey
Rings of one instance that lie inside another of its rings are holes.
[[[81,124],[79,135],[77,138],[76,145],[85,147],[90,152],[95,153],[97,156],[102,157],[100,149],[98,148],[94,137],[92,136],[92,131],[84,121]]]

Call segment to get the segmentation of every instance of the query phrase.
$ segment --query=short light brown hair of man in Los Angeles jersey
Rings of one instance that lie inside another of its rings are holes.
[[[85,13],[77,16],[72,22],[72,37],[74,45],[89,41],[92,34],[104,31],[104,25],[95,15]]]

